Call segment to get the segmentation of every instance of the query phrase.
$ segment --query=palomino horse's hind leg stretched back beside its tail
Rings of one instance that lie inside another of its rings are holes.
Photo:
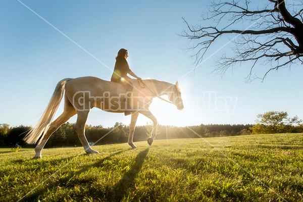
[[[72,116],[76,114],[76,110],[69,103],[68,100],[65,101],[63,113],[49,126],[46,134],[43,136],[43,139],[38,143],[35,148],[35,156],[33,159],[41,159],[41,150],[47,142],[48,138],[65,122],[67,122]]]

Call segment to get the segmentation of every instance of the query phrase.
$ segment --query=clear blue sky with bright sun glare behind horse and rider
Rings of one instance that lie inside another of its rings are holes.
[[[230,51],[227,45],[188,73],[194,68],[194,59],[189,57],[193,52],[184,50],[188,39],[177,35],[186,28],[181,18],[199,23],[207,1],[22,2],[110,68],[123,47],[129,50],[130,68],[138,76],[171,83],[179,80],[184,110],[178,111],[155,98],[150,111],[159,124],[252,124],[257,114],[272,110],[287,111],[290,116],[303,119],[302,65],[291,71],[271,72],[264,82],[244,82],[249,64],[235,66],[221,78],[212,73],[211,66],[214,58]],[[34,125],[63,78],[111,77],[111,70],[18,1],[0,2],[0,24],[0,123]],[[221,38],[206,57],[226,42],[227,37]],[[265,67],[258,65],[255,69],[263,72]],[[231,99],[232,113],[224,107],[220,111],[203,106],[208,92],[218,102],[220,97],[236,97],[234,105]],[[192,105],[196,98],[200,100],[197,106]],[[56,116],[62,111],[63,106]],[[75,120],[76,116],[70,122]],[[87,124],[108,127],[115,122],[128,125],[130,116],[95,109],[90,112]],[[146,122],[149,120],[140,115],[137,125]]]

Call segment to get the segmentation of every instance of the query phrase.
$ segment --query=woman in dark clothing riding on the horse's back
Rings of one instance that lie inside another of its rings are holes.
[[[128,66],[128,63],[126,59],[128,58],[128,51],[127,49],[121,48],[118,52],[118,56],[116,57],[116,64],[115,64],[115,69],[111,78],[111,81],[121,83],[125,89],[126,93],[132,92],[133,90],[133,85],[130,82],[130,78],[127,76],[127,74],[135,77],[139,81],[142,81],[140,77],[135,75]],[[127,101],[127,109],[125,109],[125,116],[131,114],[131,105],[130,105],[130,100],[125,100]],[[122,100],[121,100],[122,102]]]

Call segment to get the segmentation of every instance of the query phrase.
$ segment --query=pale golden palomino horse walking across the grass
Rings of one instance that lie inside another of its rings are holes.
[[[148,107],[154,97],[160,95],[168,95],[168,99],[173,103],[178,110],[183,109],[183,102],[181,98],[181,91],[176,84],[171,84],[165,81],[158,81],[153,79],[143,80],[139,82],[136,79],[131,79],[133,84],[133,96],[127,98],[125,88],[119,84],[110,81],[105,81],[96,77],[80,77],[80,78],[66,78],[61,80],[52,95],[51,101],[45,109],[42,117],[37,125],[25,136],[25,141],[29,144],[38,142],[35,147],[35,156],[33,159],[41,158],[41,150],[44,147],[48,138],[72,116],[78,114],[75,130],[87,154],[98,153],[93,150],[87,142],[85,137],[85,123],[88,113],[91,108],[96,107],[108,112],[124,113],[126,104],[124,106],[119,100],[132,100],[131,123],[129,126],[128,144],[131,148],[136,148],[133,143],[133,134],[135,130],[138,114],[142,114],[153,121],[153,131],[151,136],[147,139],[149,145],[154,141],[157,131],[157,119],[150,113]],[[65,89],[65,94],[64,94]],[[125,95],[124,98],[121,95]],[[64,95],[64,111],[52,122],[59,104]],[[51,123],[52,122],[52,123]]]

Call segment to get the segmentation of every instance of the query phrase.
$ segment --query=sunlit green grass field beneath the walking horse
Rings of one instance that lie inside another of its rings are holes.
[[[31,160],[33,149],[3,148],[0,201],[44,180],[21,201],[303,201],[302,133],[206,140],[234,162],[200,138],[93,146],[94,155],[43,149],[40,160]]]

